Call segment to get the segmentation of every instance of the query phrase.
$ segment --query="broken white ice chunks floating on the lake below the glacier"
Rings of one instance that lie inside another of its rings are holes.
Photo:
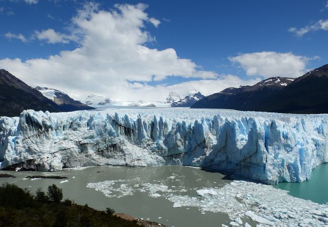
[[[145,181],[145,180],[144,180]],[[270,185],[246,181],[233,181],[221,188],[188,188],[182,193],[180,187],[169,188],[170,180],[158,180],[156,184],[146,183],[140,178],[89,183],[108,197],[121,198],[138,192],[154,197],[159,194],[173,203],[173,207],[196,207],[205,211],[227,213],[230,224],[242,225],[242,218],[248,216],[259,226],[298,226],[311,223],[314,226],[328,224],[328,205],[292,197],[287,191]],[[158,184],[157,184],[158,183]],[[140,187],[132,187],[138,184]],[[123,185],[125,187],[123,187]],[[192,193],[194,192],[194,196]],[[200,196],[201,195],[201,196]],[[237,225],[234,225],[237,226]],[[245,223],[245,226],[249,226]]]

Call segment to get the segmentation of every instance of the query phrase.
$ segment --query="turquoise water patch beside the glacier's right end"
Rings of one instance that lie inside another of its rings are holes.
[[[275,186],[289,191],[289,195],[311,200],[316,203],[328,202],[328,163],[314,168],[309,181],[301,183],[280,183]]]

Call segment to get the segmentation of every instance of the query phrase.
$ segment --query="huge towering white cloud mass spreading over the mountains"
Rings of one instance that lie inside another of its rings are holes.
[[[96,4],[88,4],[72,18],[70,34],[52,29],[39,32],[39,38],[48,42],[79,37],[75,40],[78,48],[44,59],[3,59],[0,68],[31,86],[57,88],[76,99],[96,93],[114,100],[165,100],[170,91],[182,96],[193,90],[212,94],[226,87],[258,81],[243,81],[231,75],[219,77],[214,72],[200,70],[189,59],[179,58],[173,48],[148,48],[145,43],[152,37],[145,31],[145,25],[150,22],[145,9],[145,5],[138,4],[116,5],[114,10],[99,11]],[[167,76],[196,79],[172,86],[147,84]]]

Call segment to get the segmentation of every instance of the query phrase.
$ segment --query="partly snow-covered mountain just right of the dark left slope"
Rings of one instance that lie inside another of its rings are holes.
[[[85,105],[80,101],[74,100],[65,92],[62,92],[57,89],[40,87],[40,86],[37,86],[34,89],[40,91],[43,96],[47,97],[48,99],[59,105],[62,111],[94,109],[93,107]]]

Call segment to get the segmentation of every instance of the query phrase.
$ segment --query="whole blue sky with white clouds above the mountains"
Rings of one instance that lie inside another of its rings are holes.
[[[295,78],[328,64],[327,40],[327,0],[0,0],[0,69],[77,100]]]

